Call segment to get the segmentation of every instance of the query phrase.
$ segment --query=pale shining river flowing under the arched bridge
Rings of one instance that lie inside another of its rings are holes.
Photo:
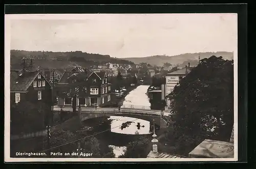
[[[146,95],[149,86],[141,85],[127,94],[123,101],[123,107],[150,109],[150,102]],[[84,121],[87,125],[97,126],[94,132],[110,129],[97,134],[96,137],[113,148],[116,157],[124,154],[126,145],[136,140],[139,135],[152,134],[152,122],[122,116],[110,116],[94,118]],[[101,125],[96,125],[101,124]]]

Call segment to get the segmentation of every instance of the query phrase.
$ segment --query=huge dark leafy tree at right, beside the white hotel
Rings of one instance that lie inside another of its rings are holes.
[[[174,91],[171,100],[174,135],[181,151],[206,138],[227,141],[233,126],[233,61],[212,56],[201,60]]]

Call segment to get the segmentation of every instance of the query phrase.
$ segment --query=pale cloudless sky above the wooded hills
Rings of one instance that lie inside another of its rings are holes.
[[[116,58],[237,49],[236,14],[46,14],[10,17],[10,47]]]

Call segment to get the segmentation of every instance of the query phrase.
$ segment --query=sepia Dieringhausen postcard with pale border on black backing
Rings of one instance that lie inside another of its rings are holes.
[[[237,14],[6,14],[4,151],[237,161]]]

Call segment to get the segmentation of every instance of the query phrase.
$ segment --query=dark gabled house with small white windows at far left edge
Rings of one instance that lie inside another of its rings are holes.
[[[52,86],[39,71],[10,71],[11,102],[44,102],[51,105]]]

